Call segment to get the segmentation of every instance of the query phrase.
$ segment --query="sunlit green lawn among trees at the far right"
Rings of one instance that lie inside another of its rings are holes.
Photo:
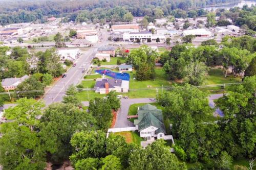
[[[208,74],[209,76],[205,79],[205,85],[241,82],[241,78],[234,77],[233,75],[228,75],[225,78],[222,69],[210,69]]]

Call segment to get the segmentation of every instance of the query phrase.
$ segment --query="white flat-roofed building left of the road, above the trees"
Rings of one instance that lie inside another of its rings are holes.
[[[76,49],[65,49],[65,50],[58,50],[57,54],[60,56],[61,60],[71,60],[75,61],[80,57],[80,50]]]

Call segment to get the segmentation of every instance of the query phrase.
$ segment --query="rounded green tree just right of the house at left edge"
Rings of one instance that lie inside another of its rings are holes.
[[[40,81],[36,80],[34,77],[26,79],[24,82],[20,83],[16,91],[20,97],[38,98],[45,93],[45,85]]]

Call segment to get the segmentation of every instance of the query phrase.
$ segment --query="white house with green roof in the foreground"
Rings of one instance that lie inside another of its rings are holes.
[[[157,107],[146,104],[138,107],[138,119],[134,120],[136,130],[139,131],[140,137],[151,139],[157,137],[157,139],[164,139],[167,134],[165,131],[162,110]]]

